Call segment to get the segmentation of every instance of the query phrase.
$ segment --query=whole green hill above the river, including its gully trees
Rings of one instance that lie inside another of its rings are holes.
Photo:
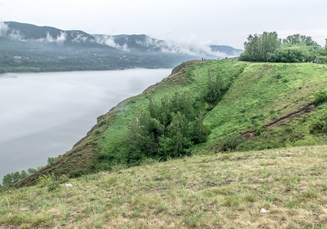
[[[46,172],[75,177],[193,154],[325,144],[326,87],[325,65],[184,62],[98,117],[72,150],[15,185]]]

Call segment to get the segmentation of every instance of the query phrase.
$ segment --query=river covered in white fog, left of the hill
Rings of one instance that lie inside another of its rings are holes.
[[[70,150],[122,100],[172,69],[0,74],[0,181]]]

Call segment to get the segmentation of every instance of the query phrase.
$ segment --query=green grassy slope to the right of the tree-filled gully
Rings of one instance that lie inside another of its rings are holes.
[[[219,151],[226,137],[254,132],[258,124],[264,127],[313,104],[318,89],[326,88],[326,71],[326,66],[310,63],[251,64],[208,115],[208,122],[214,126],[209,146]],[[320,106],[286,125],[263,128],[261,136],[248,139],[236,149],[260,150],[297,144],[308,130],[321,134],[314,125],[326,118],[326,107]],[[317,137],[323,139],[321,135]],[[320,142],[317,139],[315,143]]]

